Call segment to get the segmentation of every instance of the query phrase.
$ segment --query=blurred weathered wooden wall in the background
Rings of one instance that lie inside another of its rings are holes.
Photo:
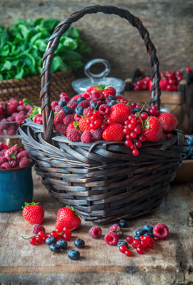
[[[52,17],[64,20],[90,5],[115,5],[139,17],[150,33],[160,61],[160,70],[193,65],[192,0],[1,0],[0,25],[18,18]],[[73,25],[93,48],[89,59],[100,57],[112,65],[112,76],[126,79],[137,66],[150,74],[149,56],[136,28],[115,15],[86,15]]]

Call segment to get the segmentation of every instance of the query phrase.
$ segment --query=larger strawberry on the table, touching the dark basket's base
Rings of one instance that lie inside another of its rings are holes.
[[[78,229],[81,225],[81,219],[74,211],[73,207],[66,206],[59,209],[57,213],[56,229],[63,229],[67,226],[70,230]]]

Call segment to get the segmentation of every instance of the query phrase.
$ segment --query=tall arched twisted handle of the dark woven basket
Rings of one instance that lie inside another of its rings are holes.
[[[149,38],[149,33],[147,29],[143,26],[142,21],[132,15],[128,10],[117,8],[115,6],[100,6],[94,5],[90,7],[86,7],[81,9],[75,13],[73,13],[68,19],[62,21],[54,30],[52,36],[49,38],[47,43],[46,51],[43,55],[42,59],[42,73],[41,73],[41,92],[40,92],[40,99],[42,101],[41,105],[41,112],[42,112],[42,119],[43,119],[43,129],[45,135],[45,141],[51,143],[52,138],[52,128],[54,122],[54,113],[52,111],[50,105],[50,86],[51,86],[51,64],[53,60],[53,55],[55,50],[57,49],[61,36],[68,30],[73,22],[77,22],[86,14],[93,14],[102,12],[104,14],[115,14],[121,18],[128,20],[128,22],[133,26],[136,27],[140,33],[140,36],[145,42],[145,46],[147,52],[150,56],[150,65],[152,68],[152,88],[151,88],[151,99],[150,105],[156,105],[159,109],[160,107],[160,73],[159,73],[159,61],[156,56],[156,48],[152,41]]]

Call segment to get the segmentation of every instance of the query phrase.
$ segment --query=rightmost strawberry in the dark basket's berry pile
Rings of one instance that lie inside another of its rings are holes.
[[[176,117],[171,113],[161,113],[158,117],[158,120],[160,121],[163,131],[166,133],[173,132],[176,129],[177,126],[177,119]]]

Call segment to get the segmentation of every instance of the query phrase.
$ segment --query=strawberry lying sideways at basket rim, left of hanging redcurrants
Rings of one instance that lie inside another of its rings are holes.
[[[122,141],[124,138],[123,129],[121,124],[112,124],[103,131],[102,137],[105,141]]]

